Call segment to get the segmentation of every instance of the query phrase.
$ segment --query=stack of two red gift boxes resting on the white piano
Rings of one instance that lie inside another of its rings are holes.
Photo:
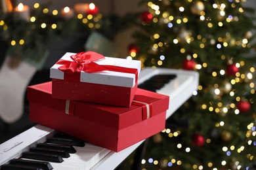
[[[30,120],[119,152],[165,128],[169,96],[137,88],[140,61],[66,53],[28,87]]]

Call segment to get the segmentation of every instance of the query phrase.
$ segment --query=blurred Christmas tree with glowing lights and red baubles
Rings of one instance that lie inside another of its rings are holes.
[[[141,5],[148,10],[140,13],[131,57],[140,59],[142,68],[200,73],[198,93],[171,116],[184,124],[167,120],[166,128],[149,139],[143,169],[253,169],[254,11],[242,0],[152,0]]]

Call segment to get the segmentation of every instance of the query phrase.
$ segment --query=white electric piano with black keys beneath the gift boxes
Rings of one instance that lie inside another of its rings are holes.
[[[138,86],[169,95],[167,119],[196,92],[198,81],[195,71],[145,68]],[[38,124],[0,144],[0,169],[115,169],[142,143],[113,152]]]

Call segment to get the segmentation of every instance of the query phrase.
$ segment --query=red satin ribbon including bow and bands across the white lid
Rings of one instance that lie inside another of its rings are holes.
[[[71,81],[79,81],[81,71],[85,71],[86,73],[95,73],[99,71],[116,71],[121,73],[131,73],[135,74],[135,78],[138,78],[138,70],[127,67],[119,67],[116,65],[98,65],[93,61],[97,61],[99,59],[104,59],[104,56],[98,54],[96,52],[80,52],[73,56],[70,56],[73,61],[68,61],[65,59],[60,59],[56,62],[56,64],[62,64],[62,66],[58,67],[60,71],[64,73],[64,80]]]

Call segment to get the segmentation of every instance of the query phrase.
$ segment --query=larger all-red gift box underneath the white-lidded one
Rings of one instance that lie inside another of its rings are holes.
[[[54,99],[52,83],[28,87],[30,120],[120,151],[165,128],[169,96],[138,89],[131,107]]]

